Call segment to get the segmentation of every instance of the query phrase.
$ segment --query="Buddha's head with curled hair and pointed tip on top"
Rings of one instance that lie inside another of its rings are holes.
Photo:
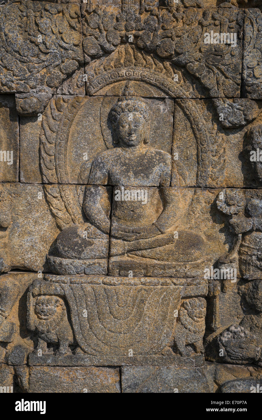
[[[130,82],[127,82],[124,94],[126,96],[119,98],[110,113],[114,142],[124,147],[148,143],[148,107],[140,97],[131,96]]]

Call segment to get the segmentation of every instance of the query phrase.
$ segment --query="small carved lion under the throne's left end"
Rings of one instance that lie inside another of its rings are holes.
[[[64,301],[57,296],[38,296],[34,308],[34,328],[38,336],[38,345],[34,352],[47,352],[47,344],[59,344],[55,354],[68,352],[68,345],[74,337],[67,319]]]

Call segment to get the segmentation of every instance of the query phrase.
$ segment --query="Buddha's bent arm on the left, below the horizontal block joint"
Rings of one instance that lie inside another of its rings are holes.
[[[104,210],[108,207],[108,203],[103,206],[106,200],[109,200],[106,187],[98,185],[85,187],[83,210],[88,220],[102,232],[109,234],[110,219]]]

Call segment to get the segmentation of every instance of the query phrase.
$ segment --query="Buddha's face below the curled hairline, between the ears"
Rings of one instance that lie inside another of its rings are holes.
[[[146,121],[139,113],[124,113],[119,117],[116,134],[122,145],[138,146],[146,136]]]

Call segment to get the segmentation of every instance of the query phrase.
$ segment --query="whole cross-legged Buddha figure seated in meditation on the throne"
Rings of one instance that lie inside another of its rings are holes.
[[[177,196],[177,192],[169,188],[171,156],[148,144],[149,110],[142,99],[130,93],[127,82],[126,96],[119,98],[110,113],[115,147],[101,152],[91,167],[83,200],[83,210],[90,223],[64,229],[57,237],[57,255],[78,260],[107,257],[110,209],[105,186],[117,186],[128,189],[130,194],[139,189],[146,200],[117,202],[113,191],[111,257],[131,252],[134,258],[138,250],[138,253],[145,250],[145,255],[137,256],[173,262],[177,253],[185,254],[186,248],[189,261],[199,260],[203,242],[199,235],[180,231],[183,243],[177,244],[178,248],[173,247],[172,226],[180,200],[179,193]],[[172,249],[165,249],[168,244]]]

